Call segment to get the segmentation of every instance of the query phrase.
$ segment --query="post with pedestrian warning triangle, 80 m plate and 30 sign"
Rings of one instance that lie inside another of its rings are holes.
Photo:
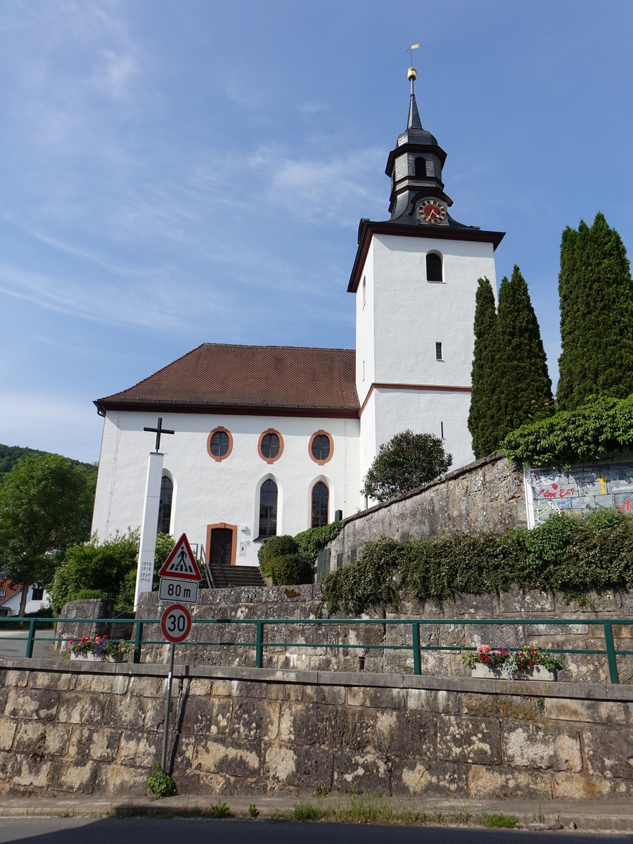
[[[161,601],[197,602],[197,587],[200,569],[192,554],[187,534],[183,533],[176,542],[173,551],[167,557],[159,571]],[[171,603],[160,618],[160,630],[170,645],[170,670],[167,679],[167,700],[165,701],[165,729],[163,730],[163,755],[160,769],[165,773],[167,764],[167,738],[170,728],[171,683],[174,677],[174,654],[176,644],[185,641],[192,630],[192,616],[183,603]]]

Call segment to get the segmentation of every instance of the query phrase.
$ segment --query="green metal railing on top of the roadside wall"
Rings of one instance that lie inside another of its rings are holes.
[[[45,619],[45,618],[14,618],[6,617],[0,619],[0,629],[7,624],[27,623],[29,625],[28,635],[26,637],[26,653],[25,656],[30,658],[33,656],[33,647],[35,644],[35,625],[42,622],[51,622],[57,624],[58,630],[62,625],[134,625],[133,641],[131,642],[133,648],[133,662],[140,663],[141,650],[143,645],[165,645],[165,639],[143,639],[143,627],[149,625],[160,625],[160,619]],[[603,628],[604,634],[604,648],[548,648],[550,653],[582,653],[594,656],[607,657],[609,665],[609,679],[611,683],[619,683],[618,663],[617,657],[633,656],[633,651],[617,649],[614,645],[614,626],[630,626],[633,625],[633,619],[193,619],[194,625],[255,625],[255,639],[253,641],[183,641],[179,647],[254,647],[255,648],[255,666],[262,668],[263,652],[266,647],[297,647],[297,648],[315,648],[325,647],[333,650],[343,648],[360,648],[367,650],[382,650],[382,651],[408,651],[413,652],[414,660],[414,674],[422,674],[422,664],[420,654],[422,652],[434,651],[474,651],[476,647],[461,645],[420,645],[419,629],[420,626],[443,626],[443,625],[496,625],[496,626],[511,626],[511,625],[547,625],[548,627],[565,627],[565,626],[598,626]],[[406,645],[392,645],[387,644],[386,641],[380,644],[362,644],[362,643],[347,643],[347,642],[330,642],[330,641],[316,641],[316,642],[293,642],[293,641],[265,641],[264,628],[266,625],[339,625],[339,626],[357,626],[362,627],[366,625],[380,625],[386,627],[387,625],[408,625],[411,628],[411,644]],[[538,634],[535,634],[538,635]],[[3,636],[6,640],[24,641],[24,636]],[[38,637],[38,641],[59,642],[68,641],[68,636],[52,636]],[[117,641],[113,637],[113,641]],[[521,648],[510,648],[512,651],[519,651]]]

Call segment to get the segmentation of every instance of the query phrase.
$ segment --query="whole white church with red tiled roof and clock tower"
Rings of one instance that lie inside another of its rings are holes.
[[[257,565],[263,541],[366,506],[362,480],[405,428],[441,437],[458,467],[467,427],[478,279],[496,290],[503,233],[452,219],[446,154],[422,127],[409,70],[408,126],[389,154],[390,219],[360,221],[348,291],[355,349],[202,344],[134,387],[95,401],[104,417],[93,531],[143,519],[148,452],[160,437],[158,527],[214,563]]]

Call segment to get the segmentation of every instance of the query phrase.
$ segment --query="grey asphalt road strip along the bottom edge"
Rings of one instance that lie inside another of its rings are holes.
[[[455,829],[436,826],[375,826],[275,823],[269,820],[160,818],[2,818],[0,841],[30,844],[595,844],[630,841],[630,835],[578,832]]]

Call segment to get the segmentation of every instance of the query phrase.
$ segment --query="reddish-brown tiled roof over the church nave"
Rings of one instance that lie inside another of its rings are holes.
[[[109,409],[358,414],[354,349],[203,343],[133,387],[95,401]]]

